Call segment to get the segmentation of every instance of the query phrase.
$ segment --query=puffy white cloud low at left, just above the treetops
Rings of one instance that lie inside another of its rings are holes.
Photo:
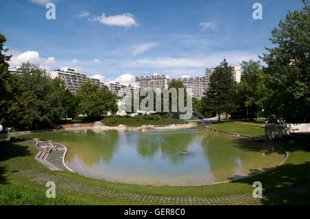
[[[55,63],[54,57],[41,58],[38,51],[25,51],[23,53],[17,53],[12,56],[10,65],[21,65],[23,62],[30,62],[32,64],[39,65],[52,65]]]

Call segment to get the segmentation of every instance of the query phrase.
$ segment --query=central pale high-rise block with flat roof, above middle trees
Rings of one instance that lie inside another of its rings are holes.
[[[161,89],[168,88],[169,76],[154,73],[153,76],[136,76],[135,85],[140,89],[153,90],[161,93]]]

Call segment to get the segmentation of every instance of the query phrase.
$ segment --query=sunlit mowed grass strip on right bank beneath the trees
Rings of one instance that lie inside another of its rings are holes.
[[[263,137],[265,134],[265,129],[261,126],[237,124],[235,122],[217,122],[215,124],[211,124],[210,127],[225,132],[249,135],[251,137]]]

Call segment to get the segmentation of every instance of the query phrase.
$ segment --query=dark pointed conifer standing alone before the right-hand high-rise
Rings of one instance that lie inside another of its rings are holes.
[[[234,69],[228,65],[226,59],[220,62],[220,65],[211,74],[203,102],[209,111],[218,113],[218,121],[220,121],[220,113],[225,112],[227,119],[227,114],[236,108]]]

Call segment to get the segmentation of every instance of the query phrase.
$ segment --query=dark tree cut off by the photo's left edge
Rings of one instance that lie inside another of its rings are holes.
[[[8,71],[11,56],[3,49],[6,37],[0,34],[0,124],[15,128],[29,128],[29,105],[33,101],[28,91],[19,89],[16,75]]]

